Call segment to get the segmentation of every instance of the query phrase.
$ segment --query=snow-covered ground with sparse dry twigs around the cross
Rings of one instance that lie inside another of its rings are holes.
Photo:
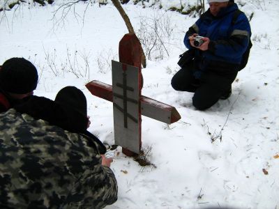
[[[156,22],[165,28],[159,35],[166,50],[158,47],[142,70],[142,94],[176,107],[181,120],[166,125],[142,117],[142,148],[153,166],[141,167],[121,148],[107,153],[114,158],[111,168],[119,184],[119,199],[107,208],[278,209],[278,0],[237,1],[252,17],[250,61],[233,83],[232,96],[206,111],[192,106],[193,93],[170,86],[179,54],[186,50],[183,37],[198,15],[166,9],[197,1],[152,2],[145,8],[132,2],[123,6],[142,37],[154,34]],[[112,145],[112,103],[91,95],[84,84],[93,79],[112,84],[110,62],[119,61],[119,40],[128,30],[110,1],[56,11],[62,3],[21,3],[0,12],[0,63],[14,56],[34,63],[40,75],[36,95],[54,99],[64,86],[82,89],[89,130]]]

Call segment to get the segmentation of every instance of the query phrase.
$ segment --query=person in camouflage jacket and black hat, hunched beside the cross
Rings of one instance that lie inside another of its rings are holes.
[[[0,114],[0,208],[104,208],[117,199],[105,146],[86,129],[86,98],[67,86]]]

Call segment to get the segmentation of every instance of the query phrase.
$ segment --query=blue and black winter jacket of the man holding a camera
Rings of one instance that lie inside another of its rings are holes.
[[[184,44],[188,49],[195,48],[190,45],[188,38],[193,33],[211,40],[208,50],[197,50],[199,70],[205,71],[208,66],[218,68],[218,63],[221,67],[226,63],[230,66],[241,63],[242,55],[248,47],[251,29],[244,13],[241,13],[232,24],[234,12],[238,9],[236,3],[233,3],[221,9],[216,17],[207,10],[186,33]]]

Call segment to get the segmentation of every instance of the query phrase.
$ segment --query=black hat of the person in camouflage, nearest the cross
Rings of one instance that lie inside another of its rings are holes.
[[[56,94],[54,102],[63,107],[68,117],[75,119],[73,121],[80,127],[79,130],[87,129],[87,102],[80,89],[75,86],[66,86]]]

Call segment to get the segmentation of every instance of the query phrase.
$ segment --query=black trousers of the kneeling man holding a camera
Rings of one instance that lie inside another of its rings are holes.
[[[193,63],[182,68],[172,77],[172,88],[176,91],[194,92],[193,106],[199,110],[208,109],[218,102],[220,97],[229,91],[236,78],[237,71],[218,75],[214,72],[203,72],[199,79],[193,75]],[[220,70],[220,69],[219,69]]]

